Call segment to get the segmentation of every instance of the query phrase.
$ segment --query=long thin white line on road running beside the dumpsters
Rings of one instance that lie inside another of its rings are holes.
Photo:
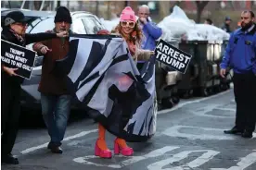
[[[188,102],[185,102],[185,103],[178,103],[176,106],[174,106],[173,108],[171,109],[166,109],[166,110],[161,110],[160,112],[158,112],[158,115],[161,115],[161,114],[167,114],[167,113],[170,113],[170,112],[173,112],[174,110],[177,110],[187,104],[190,104],[190,103],[200,103],[200,102],[203,102],[203,101],[206,101],[206,100],[209,100],[209,99],[212,99],[212,98],[215,98],[215,97],[218,97],[218,96],[221,96],[221,95],[224,95],[225,93],[228,93],[230,92],[231,90],[227,90],[227,91],[223,91],[223,92],[220,92],[216,95],[212,95],[210,97],[204,97],[202,99],[198,99],[198,100],[193,100],[193,101],[188,101]]]

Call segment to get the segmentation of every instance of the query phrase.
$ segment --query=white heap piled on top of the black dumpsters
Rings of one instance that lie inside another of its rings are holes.
[[[173,39],[186,40],[228,40],[229,33],[215,26],[196,24],[194,20],[186,17],[186,13],[179,7],[173,7],[173,13],[160,21],[158,26],[163,30],[161,39],[172,41]]]

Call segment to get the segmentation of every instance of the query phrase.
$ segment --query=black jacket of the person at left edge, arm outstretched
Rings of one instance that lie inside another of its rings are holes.
[[[20,42],[19,39],[14,35],[14,33],[11,30],[4,29],[1,33],[1,38],[3,40],[6,40],[7,42],[12,42],[20,46],[26,46],[27,44],[30,44],[32,42],[41,42],[52,38],[57,38],[56,33],[34,33],[34,34],[25,34],[24,41]],[[6,71],[3,70],[3,67],[5,64],[1,63],[1,82],[2,83],[8,83],[10,85],[20,85],[23,82],[23,78],[20,78],[19,76],[13,76],[10,77]]]

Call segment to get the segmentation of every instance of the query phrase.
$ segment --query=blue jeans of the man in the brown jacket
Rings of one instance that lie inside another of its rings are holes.
[[[41,93],[42,114],[51,137],[50,144],[61,145],[70,115],[70,102],[70,95]]]

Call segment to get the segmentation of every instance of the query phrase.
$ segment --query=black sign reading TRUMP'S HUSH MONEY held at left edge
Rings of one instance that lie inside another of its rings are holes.
[[[15,71],[20,77],[31,79],[35,52],[11,42],[1,40],[1,62],[6,67],[18,68]]]

